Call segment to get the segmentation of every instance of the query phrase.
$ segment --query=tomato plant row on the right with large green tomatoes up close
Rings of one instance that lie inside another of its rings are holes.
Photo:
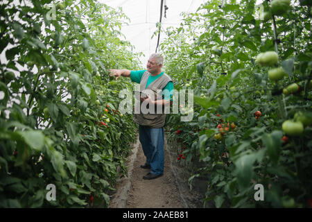
[[[189,182],[208,178],[203,205],[312,207],[311,6],[211,0],[163,30],[166,72],[196,95],[180,106],[192,121],[167,116],[167,137],[200,161]]]

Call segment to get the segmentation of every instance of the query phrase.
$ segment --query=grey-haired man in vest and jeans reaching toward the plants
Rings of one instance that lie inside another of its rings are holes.
[[[153,180],[164,173],[164,105],[172,103],[173,82],[162,71],[164,58],[159,53],[153,53],[148,59],[146,70],[130,71],[128,69],[110,69],[110,76],[130,77],[132,82],[140,84],[140,91],[153,92],[140,98],[141,103],[147,103],[150,107],[162,107],[162,113],[140,112],[134,114],[135,123],[139,124],[139,140],[141,142],[146,163],[141,165],[150,172],[143,177],[144,180]],[[161,94],[159,94],[159,92]],[[169,92],[169,93],[164,93]]]

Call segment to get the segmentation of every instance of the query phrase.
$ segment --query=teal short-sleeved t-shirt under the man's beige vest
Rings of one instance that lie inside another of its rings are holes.
[[[130,78],[132,80],[132,82],[135,83],[140,83],[141,82],[141,78],[144,74],[146,70],[139,70],[139,71],[131,71],[130,73]],[[152,76],[150,75],[148,77],[148,82],[146,83],[146,87],[148,87],[148,85],[150,85],[150,83],[153,83],[153,81],[157,80],[157,78],[159,78],[160,76],[162,76],[164,74],[164,71],[162,71],[160,74],[158,74],[157,76]],[[163,99],[168,100],[170,99],[172,101],[172,96],[173,96],[173,83],[170,81],[169,83],[167,83],[167,85],[164,87],[163,91],[167,89],[170,94],[166,95],[163,94]]]

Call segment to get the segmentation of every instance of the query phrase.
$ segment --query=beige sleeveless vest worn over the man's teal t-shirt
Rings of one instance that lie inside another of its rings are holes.
[[[155,100],[162,100],[162,91],[158,92],[157,94],[157,89],[163,89],[168,82],[172,81],[171,78],[167,74],[162,74],[162,76],[157,78],[157,80],[153,81],[153,83],[150,83],[150,85],[146,87],[149,76],[150,72],[145,71],[141,78],[140,91],[146,92],[146,94],[149,94],[149,96],[151,96],[150,92],[152,92],[154,93],[153,96]],[[162,113],[158,114],[156,105],[154,114],[150,112],[148,112],[147,114],[143,114],[141,110],[140,114],[133,114],[133,121],[135,121],[135,123],[138,123],[141,126],[150,126],[151,128],[162,128],[164,126],[165,119],[166,114],[164,114],[164,108],[162,108]]]

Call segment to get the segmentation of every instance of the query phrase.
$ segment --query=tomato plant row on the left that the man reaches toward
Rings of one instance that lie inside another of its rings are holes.
[[[138,69],[125,15],[87,1],[0,3],[0,207],[107,207],[135,141],[110,68]],[[47,185],[56,187],[47,200]]]

